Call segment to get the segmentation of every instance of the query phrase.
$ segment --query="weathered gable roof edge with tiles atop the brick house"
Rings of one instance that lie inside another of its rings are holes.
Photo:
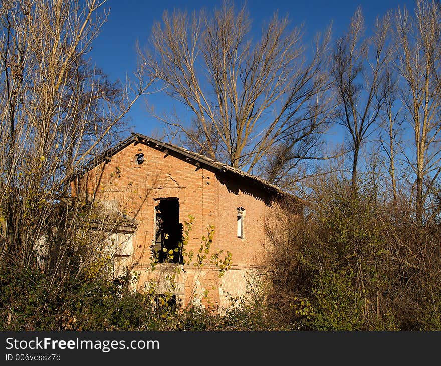
[[[110,158],[113,155],[115,155],[117,152],[121,151],[125,147],[129,146],[133,142],[135,142],[135,144],[136,143],[143,143],[145,145],[148,145],[150,147],[158,149],[158,150],[160,150],[164,153],[167,153],[167,154],[170,151],[172,151],[174,153],[174,155],[177,155],[178,157],[180,157],[184,161],[187,161],[188,163],[193,164],[196,167],[200,168],[202,165],[204,165],[205,167],[209,167],[214,170],[220,171],[221,173],[230,174],[230,175],[235,176],[237,178],[240,178],[242,180],[252,181],[255,184],[259,185],[260,187],[267,189],[267,190],[270,190],[276,194],[280,194],[280,195],[285,194],[285,192],[283,192],[280,189],[280,187],[272,185],[269,182],[267,182],[261,178],[258,178],[257,176],[245,173],[242,170],[235,169],[232,166],[223,164],[219,161],[215,161],[213,159],[210,159],[207,156],[189,151],[187,149],[184,149],[183,147],[178,147],[178,146],[173,145],[171,143],[158,141],[154,138],[144,136],[140,133],[134,133],[134,132],[132,132],[132,135],[130,137],[128,137],[127,139],[125,139],[124,141],[121,141],[116,146],[106,150],[101,155],[90,160],[88,163],[86,163],[86,165],[83,167],[81,172],[77,173],[76,175],[82,175],[85,172],[87,172],[88,170],[90,170],[93,167],[100,164],[101,162],[106,161],[106,160],[107,161],[110,160]]]

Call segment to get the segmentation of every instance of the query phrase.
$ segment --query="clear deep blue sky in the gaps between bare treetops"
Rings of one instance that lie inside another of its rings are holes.
[[[135,44],[145,45],[153,22],[160,20],[164,10],[186,9],[189,12],[206,8],[212,9],[219,6],[221,1],[178,1],[162,0],[158,2],[135,0],[107,0],[105,9],[110,11],[108,21],[103,25],[101,34],[93,44],[90,57],[98,67],[107,73],[111,80],[124,80],[126,74],[131,74],[136,68]],[[236,5],[242,2],[235,2]],[[283,0],[248,0],[247,8],[253,26],[258,27],[269,20],[275,11],[280,16],[288,15],[292,25],[304,23],[305,39],[313,37],[318,31],[323,31],[332,22],[333,38],[341,36],[350,22],[350,18],[358,6],[361,6],[366,25],[369,27],[377,16],[383,15],[387,10],[406,6],[409,10],[414,7],[414,2],[409,0],[351,0],[325,1],[283,1]],[[170,100],[163,95],[156,94],[149,98],[149,104],[155,106],[160,112],[173,107]],[[145,107],[144,100],[138,100],[129,112],[131,130],[145,135],[154,134],[160,124],[152,118]],[[182,118],[186,118],[185,115]]]

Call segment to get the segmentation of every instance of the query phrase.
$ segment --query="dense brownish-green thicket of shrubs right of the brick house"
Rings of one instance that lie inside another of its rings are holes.
[[[438,225],[378,199],[336,185],[270,230],[268,306],[291,328],[441,329]]]

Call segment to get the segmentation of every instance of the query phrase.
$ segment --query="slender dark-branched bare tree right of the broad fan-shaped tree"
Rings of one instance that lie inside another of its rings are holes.
[[[349,133],[352,158],[352,187],[357,183],[360,146],[373,132],[386,101],[383,80],[391,49],[387,37],[391,16],[377,19],[372,37],[364,36],[361,8],[352,17],[348,33],[340,38],[332,58],[331,74],[337,96],[338,121]]]

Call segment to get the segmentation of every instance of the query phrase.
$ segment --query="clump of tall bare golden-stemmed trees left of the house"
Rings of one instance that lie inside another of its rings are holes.
[[[141,69],[132,89],[112,84],[86,60],[106,21],[103,4],[8,0],[0,8],[0,265],[35,264],[45,240],[58,248],[51,275],[60,274],[81,247],[78,225],[98,220],[81,197],[67,200],[72,174],[121,132],[150,84]],[[84,261],[106,230],[89,237]]]

